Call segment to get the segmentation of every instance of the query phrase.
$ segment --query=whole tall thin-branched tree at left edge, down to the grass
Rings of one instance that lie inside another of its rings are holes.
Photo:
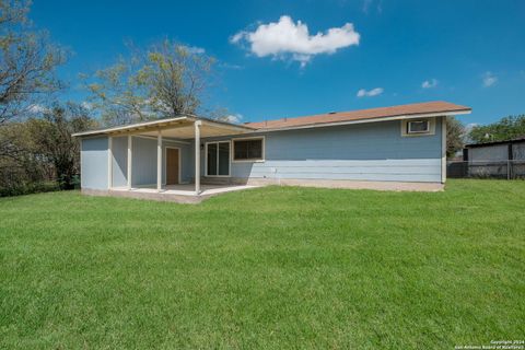
[[[31,152],[35,144],[24,120],[39,109],[40,97],[61,88],[55,68],[66,55],[33,30],[28,11],[30,1],[0,0],[0,195],[20,192],[49,170]]]

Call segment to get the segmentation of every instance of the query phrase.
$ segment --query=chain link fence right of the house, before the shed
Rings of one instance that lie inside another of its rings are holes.
[[[450,178],[525,178],[525,160],[521,161],[448,161]]]

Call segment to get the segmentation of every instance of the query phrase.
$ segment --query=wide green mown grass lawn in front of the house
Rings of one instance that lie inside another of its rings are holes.
[[[0,199],[0,348],[453,349],[525,338],[525,182]]]

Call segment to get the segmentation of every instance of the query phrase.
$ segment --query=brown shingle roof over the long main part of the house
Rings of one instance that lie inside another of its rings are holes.
[[[380,119],[388,117],[400,117],[409,115],[425,115],[425,114],[451,114],[454,112],[470,112],[470,107],[456,105],[443,101],[416,103],[410,105],[400,105],[393,107],[371,108],[351,112],[338,112],[319,114],[306,117],[282,118],[275,120],[246,122],[245,126],[255,129],[281,129],[294,128],[310,125],[322,125],[331,122],[345,122],[362,119]]]

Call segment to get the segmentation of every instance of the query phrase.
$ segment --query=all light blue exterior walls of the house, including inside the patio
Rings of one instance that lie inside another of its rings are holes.
[[[226,180],[377,180],[442,182],[442,118],[434,118],[433,135],[401,136],[401,121],[381,121],[319,127],[221,138],[265,138],[264,162],[232,162]],[[127,184],[127,137],[113,138],[113,187]],[[107,137],[82,140],[82,188],[108,188]],[[167,147],[180,150],[180,182],[195,178],[194,141],[163,140],[162,183],[165,183]],[[231,147],[233,150],[233,144]],[[206,149],[201,150],[201,176],[206,172]],[[156,139],[132,137],[131,186],[156,184]],[[207,179],[212,179],[207,178]]]

